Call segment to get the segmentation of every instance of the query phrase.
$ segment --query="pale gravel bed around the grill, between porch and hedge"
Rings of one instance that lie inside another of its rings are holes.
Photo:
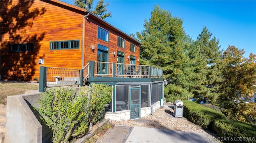
[[[200,126],[191,123],[186,118],[175,118],[173,116],[173,104],[167,102],[163,108],[160,108],[154,112],[154,115],[149,115],[140,119],[132,119],[126,121],[114,121],[115,125],[128,125],[138,127],[150,127],[157,129],[168,129],[175,131],[188,131],[194,133],[205,133],[209,137],[217,137],[214,133],[202,129]]]

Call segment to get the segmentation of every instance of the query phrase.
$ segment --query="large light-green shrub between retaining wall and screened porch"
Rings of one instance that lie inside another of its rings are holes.
[[[103,119],[104,105],[112,100],[112,88],[105,84],[46,90],[38,100],[42,120],[52,130],[54,143],[84,135]]]

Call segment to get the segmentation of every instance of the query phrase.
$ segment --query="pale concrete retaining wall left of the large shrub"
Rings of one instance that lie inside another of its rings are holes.
[[[33,93],[7,97],[5,143],[51,142],[48,137],[49,129],[46,125],[41,125],[38,113],[31,106],[38,106],[36,101],[40,95],[41,93]]]

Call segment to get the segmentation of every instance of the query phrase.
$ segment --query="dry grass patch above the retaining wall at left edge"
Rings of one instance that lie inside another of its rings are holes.
[[[7,96],[24,94],[26,90],[37,90],[36,84],[25,82],[0,82],[0,107],[6,107]]]

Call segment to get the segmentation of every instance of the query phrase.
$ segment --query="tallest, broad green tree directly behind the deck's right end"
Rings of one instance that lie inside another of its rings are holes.
[[[160,67],[164,77],[170,78],[170,84],[164,90],[168,101],[192,97],[190,87],[200,82],[195,71],[202,69],[197,63],[202,60],[198,60],[200,55],[194,55],[198,50],[194,49],[194,41],[186,35],[182,23],[181,18],[173,17],[156,5],[151,18],[144,21],[144,30],[136,33],[143,44],[140,47],[140,64]]]

